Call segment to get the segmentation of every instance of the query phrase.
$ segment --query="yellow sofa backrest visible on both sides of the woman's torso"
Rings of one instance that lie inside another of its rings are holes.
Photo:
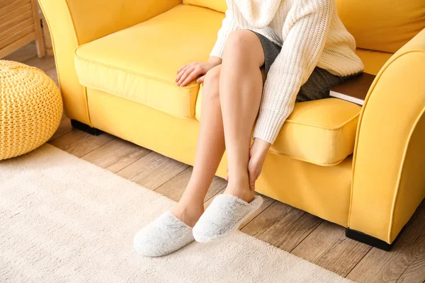
[[[285,0],[283,0],[285,1]],[[183,0],[225,12],[225,0]],[[357,47],[394,53],[425,28],[425,0],[336,0]]]

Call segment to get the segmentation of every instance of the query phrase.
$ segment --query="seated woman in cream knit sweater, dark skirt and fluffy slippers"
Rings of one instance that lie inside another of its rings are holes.
[[[166,255],[237,230],[261,205],[255,181],[295,101],[327,98],[329,88],[363,71],[335,0],[228,0],[227,6],[208,62],[177,72],[178,86],[198,76],[204,83],[196,159],[179,204],[136,234],[142,255]],[[225,149],[229,182],[204,212]]]

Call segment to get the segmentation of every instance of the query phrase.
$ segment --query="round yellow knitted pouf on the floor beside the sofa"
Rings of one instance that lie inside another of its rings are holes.
[[[0,160],[26,154],[52,137],[62,96],[40,69],[0,60]]]

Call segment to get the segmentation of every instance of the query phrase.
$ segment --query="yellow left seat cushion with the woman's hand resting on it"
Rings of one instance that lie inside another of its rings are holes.
[[[176,117],[194,117],[199,85],[176,86],[176,71],[208,60],[224,14],[179,5],[75,50],[82,85]]]

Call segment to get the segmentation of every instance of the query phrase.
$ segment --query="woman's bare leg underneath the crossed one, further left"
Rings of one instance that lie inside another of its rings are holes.
[[[219,95],[221,65],[208,71],[203,85],[202,118],[193,173],[173,214],[194,226],[204,211],[204,198],[225,152]]]

